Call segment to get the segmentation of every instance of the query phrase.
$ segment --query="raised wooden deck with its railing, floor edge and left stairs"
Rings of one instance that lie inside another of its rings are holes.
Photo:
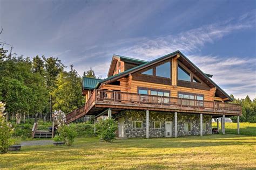
[[[96,89],[92,92],[85,107],[81,107],[66,115],[67,123],[75,121],[75,119],[84,115],[98,115],[106,108],[112,108],[117,111],[138,109],[241,116],[240,104]]]

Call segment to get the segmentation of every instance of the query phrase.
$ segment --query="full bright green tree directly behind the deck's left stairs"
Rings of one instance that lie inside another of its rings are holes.
[[[55,98],[53,109],[63,110],[65,114],[81,107],[84,98],[81,95],[82,79],[71,65],[70,72],[62,72],[57,79],[57,88],[51,93]]]

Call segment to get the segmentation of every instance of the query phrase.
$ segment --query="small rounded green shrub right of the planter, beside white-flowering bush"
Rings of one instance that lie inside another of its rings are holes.
[[[60,138],[64,140],[66,145],[72,145],[77,136],[76,130],[68,125],[60,126],[60,128],[58,129],[58,133],[60,135]]]

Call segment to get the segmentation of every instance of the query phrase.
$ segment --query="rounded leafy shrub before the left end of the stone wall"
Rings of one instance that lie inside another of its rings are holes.
[[[105,119],[96,123],[97,133],[99,133],[100,139],[110,142],[116,137],[118,125],[114,119]]]

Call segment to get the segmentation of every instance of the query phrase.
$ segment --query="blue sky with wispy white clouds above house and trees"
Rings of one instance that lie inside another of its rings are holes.
[[[176,50],[228,94],[256,97],[256,1],[0,0],[1,41],[106,77],[113,54]],[[9,46],[5,46],[10,48]]]

